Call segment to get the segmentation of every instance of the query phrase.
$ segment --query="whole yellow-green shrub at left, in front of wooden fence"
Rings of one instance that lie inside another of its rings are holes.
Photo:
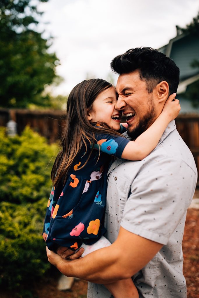
[[[12,138],[0,128],[0,283],[7,288],[50,267],[41,234],[56,148],[28,127]]]

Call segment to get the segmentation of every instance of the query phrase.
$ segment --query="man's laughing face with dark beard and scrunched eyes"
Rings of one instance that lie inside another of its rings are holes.
[[[116,108],[127,117],[128,135],[136,139],[157,118],[153,92],[148,93],[138,70],[120,75],[116,90],[119,95]]]

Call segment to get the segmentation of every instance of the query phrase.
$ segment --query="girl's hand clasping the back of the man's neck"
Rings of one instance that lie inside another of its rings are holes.
[[[176,93],[173,93],[169,96],[162,110],[162,113],[166,114],[170,121],[175,119],[181,110],[179,100],[175,99],[175,96]]]

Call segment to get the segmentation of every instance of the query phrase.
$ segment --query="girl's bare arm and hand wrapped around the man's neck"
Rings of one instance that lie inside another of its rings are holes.
[[[170,121],[175,119],[180,112],[179,100],[175,99],[175,93],[166,101],[162,113],[153,124],[138,136],[135,141],[130,141],[123,150],[122,158],[128,160],[144,159],[158,145],[159,140]]]

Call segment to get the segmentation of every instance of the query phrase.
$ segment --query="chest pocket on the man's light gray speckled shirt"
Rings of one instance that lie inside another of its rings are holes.
[[[108,178],[106,213],[121,221],[130,191],[129,181],[112,171]]]

